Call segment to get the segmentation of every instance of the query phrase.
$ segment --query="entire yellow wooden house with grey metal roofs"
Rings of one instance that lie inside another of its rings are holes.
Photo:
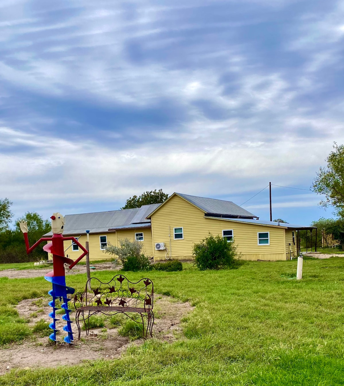
[[[231,201],[182,193],[173,193],[162,204],[65,218],[64,235],[73,235],[82,245],[89,230],[91,261],[110,259],[106,246],[119,246],[125,238],[142,242],[143,252],[154,261],[189,260],[194,243],[209,233],[234,241],[241,259],[287,260],[298,254],[299,230],[314,228],[262,221]],[[73,260],[81,254],[71,241],[65,242],[64,249]]]

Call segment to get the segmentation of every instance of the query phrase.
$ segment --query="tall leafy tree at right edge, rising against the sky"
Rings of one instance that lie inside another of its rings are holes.
[[[323,207],[333,206],[344,217],[344,145],[334,142],[334,151],[326,158],[327,166],[321,167],[313,180],[312,190],[324,194]]]

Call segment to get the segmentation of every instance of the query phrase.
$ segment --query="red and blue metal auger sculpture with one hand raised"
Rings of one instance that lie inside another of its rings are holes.
[[[64,223],[65,220],[61,213],[53,213],[51,216],[52,237],[42,237],[37,242],[35,242],[32,247],[29,245],[29,237],[27,236],[27,222],[22,220],[19,222],[19,226],[20,230],[24,234],[27,254],[32,252],[41,242],[48,241],[48,244],[44,245],[43,249],[44,251],[52,254],[53,267],[53,270],[44,276],[44,279],[52,283],[52,289],[48,293],[52,296],[52,300],[49,301],[49,306],[52,307],[52,312],[49,313],[49,317],[52,318],[52,323],[49,324],[49,327],[53,330],[53,332],[49,338],[56,341],[56,320],[58,320],[56,318],[56,310],[58,307],[56,307],[55,302],[59,298],[60,301],[63,300],[61,308],[66,312],[64,315],[62,315],[62,319],[67,322],[67,324],[62,329],[68,333],[68,335],[64,337],[64,341],[71,344],[73,342],[73,332],[68,309],[68,301],[70,301],[70,299],[67,298],[67,294],[73,294],[75,290],[74,288],[66,286],[65,269],[72,269],[84,256],[86,256],[88,251],[83,247],[83,245],[79,243],[75,237],[62,236]],[[79,248],[84,252],[75,261],[64,257],[63,242],[65,240],[72,240],[73,243],[78,245]]]

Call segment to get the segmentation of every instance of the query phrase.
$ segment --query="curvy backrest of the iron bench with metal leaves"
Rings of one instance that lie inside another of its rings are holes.
[[[108,283],[91,278],[86,283],[85,292],[75,294],[74,306],[122,306],[151,310],[153,294],[153,282],[148,278],[132,282],[123,275],[116,275]]]

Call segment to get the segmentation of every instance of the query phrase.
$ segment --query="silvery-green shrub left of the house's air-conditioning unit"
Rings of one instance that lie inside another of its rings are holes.
[[[119,240],[120,247],[108,244],[105,253],[114,255],[113,261],[123,265],[124,271],[141,271],[148,269],[150,262],[148,257],[142,252],[143,244],[137,240]]]

